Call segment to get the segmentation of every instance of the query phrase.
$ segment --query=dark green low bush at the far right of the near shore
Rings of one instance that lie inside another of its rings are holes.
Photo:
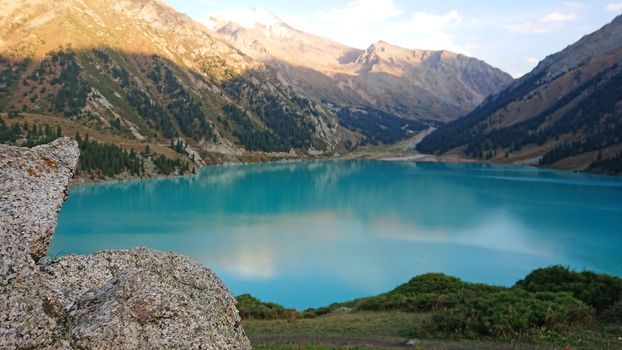
[[[622,297],[622,279],[590,271],[575,272],[563,266],[535,270],[516,287],[530,292],[569,292],[599,314]]]

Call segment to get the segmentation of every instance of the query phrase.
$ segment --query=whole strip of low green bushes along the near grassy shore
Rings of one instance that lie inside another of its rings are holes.
[[[341,307],[368,314],[412,312],[421,320],[411,328],[415,337],[559,344],[572,338],[579,344],[600,340],[603,329],[618,334],[622,302],[613,301],[619,298],[619,282],[616,277],[560,266],[535,270],[512,288],[432,273],[378,296],[301,313],[250,295],[238,297],[238,307],[244,319],[315,318]]]

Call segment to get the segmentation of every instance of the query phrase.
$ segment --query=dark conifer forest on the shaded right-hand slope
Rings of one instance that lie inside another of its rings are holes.
[[[569,93],[557,98],[548,108],[532,118],[497,127],[494,119],[512,101],[528,98],[537,89],[541,74],[522,79],[512,89],[492,97],[472,113],[440,127],[418,146],[425,153],[446,153],[463,149],[464,154],[488,160],[499,154],[520,152],[527,147],[556,145],[540,158],[540,165],[555,163],[590,152],[598,152],[586,170],[616,175],[620,173],[621,154],[602,159],[602,150],[622,142],[622,119],[619,101],[622,100],[622,67],[614,65]],[[569,107],[572,106],[572,107]],[[557,116],[557,117],[555,117]],[[560,140],[570,139],[562,142]]]

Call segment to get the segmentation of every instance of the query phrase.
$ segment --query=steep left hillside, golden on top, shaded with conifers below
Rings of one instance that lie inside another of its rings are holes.
[[[1,2],[2,110],[181,142],[197,162],[338,143],[332,112],[157,0]]]

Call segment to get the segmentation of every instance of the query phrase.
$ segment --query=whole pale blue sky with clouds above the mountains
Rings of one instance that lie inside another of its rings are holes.
[[[520,76],[622,14],[622,0],[165,0],[205,22],[262,7],[294,28],[364,49],[385,40],[447,49]]]

